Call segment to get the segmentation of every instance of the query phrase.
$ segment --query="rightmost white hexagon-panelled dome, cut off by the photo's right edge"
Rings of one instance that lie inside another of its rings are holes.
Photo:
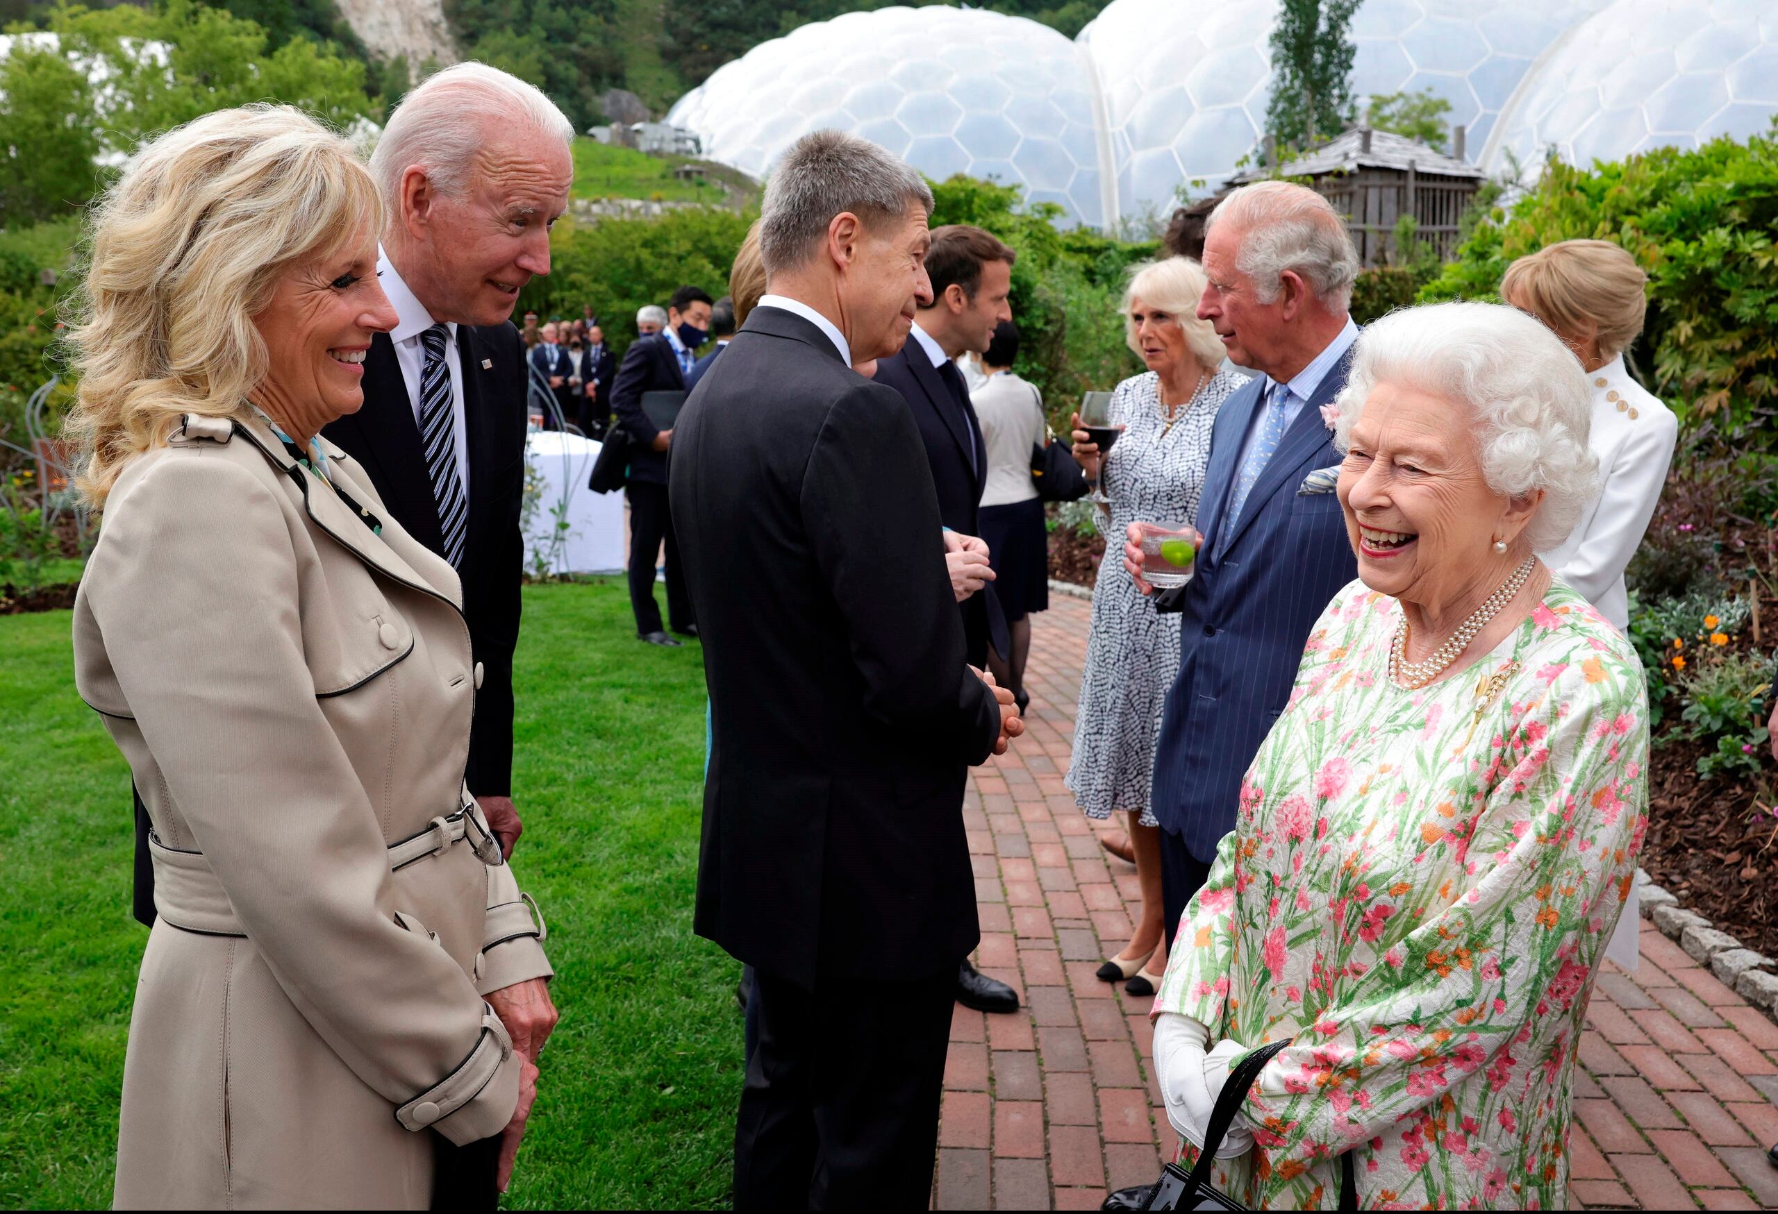
[[[1778,114],[1771,0],[1613,0],[1520,84],[1483,167],[1620,160],[1766,130]]]

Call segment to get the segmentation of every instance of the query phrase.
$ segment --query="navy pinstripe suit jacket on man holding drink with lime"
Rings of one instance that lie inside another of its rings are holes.
[[[1216,414],[1198,499],[1197,576],[1159,603],[1179,611],[1181,633],[1152,795],[1161,827],[1200,860],[1234,830],[1241,777],[1291,699],[1309,629],[1358,576],[1339,496],[1298,492],[1309,473],[1341,462],[1319,405],[1339,395],[1350,371],[1348,352],[1284,432],[1229,535],[1229,491],[1266,377],[1255,375]]]

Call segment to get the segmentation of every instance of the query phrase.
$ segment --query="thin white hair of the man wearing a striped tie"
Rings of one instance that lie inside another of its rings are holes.
[[[391,219],[400,215],[402,176],[414,165],[441,194],[461,197],[477,153],[496,130],[560,139],[564,148],[574,142],[574,124],[555,101],[487,64],[453,64],[404,96],[370,153],[370,174]]]

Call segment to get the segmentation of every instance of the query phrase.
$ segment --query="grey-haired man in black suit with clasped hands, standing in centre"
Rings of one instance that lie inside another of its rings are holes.
[[[914,419],[852,370],[930,293],[930,208],[882,148],[800,139],[766,183],[766,295],[676,425],[713,722],[693,926],[757,976],[743,1210],[928,1203],[980,938],[964,779],[1022,729],[965,661]]]

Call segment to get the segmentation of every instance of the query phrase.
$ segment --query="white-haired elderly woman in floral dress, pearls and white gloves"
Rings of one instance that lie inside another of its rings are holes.
[[[1316,624],[1156,999],[1202,1145],[1259,1209],[1563,1209],[1581,1015],[1646,825],[1643,672],[1534,556],[1593,491],[1588,386],[1510,307],[1358,339],[1335,419],[1360,579]],[[1214,1043],[1214,1045],[1213,1045]],[[1193,1154],[1188,1146],[1188,1154]]]

